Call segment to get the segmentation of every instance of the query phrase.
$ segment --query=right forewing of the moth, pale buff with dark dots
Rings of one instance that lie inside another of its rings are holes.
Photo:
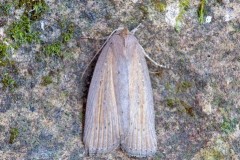
[[[129,55],[129,126],[121,147],[129,155],[148,157],[157,150],[152,87],[143,48],[132,35],[126,44],[126,55]]]

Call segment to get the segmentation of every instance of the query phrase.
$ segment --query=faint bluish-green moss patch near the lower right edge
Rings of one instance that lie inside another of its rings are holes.
[[[222,132],[229,134],[236,129],[238,121],[237,119],[228,119],[226,117],[223,118],[223,123],[221,124]]]

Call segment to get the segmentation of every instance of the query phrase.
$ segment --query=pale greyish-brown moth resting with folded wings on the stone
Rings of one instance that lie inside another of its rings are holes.
[[[155,113],[145,54],[126,28],[117,30],[103,47],[86,105],[83,141],[89,155],[118,147],[134,157],[155,154]]]

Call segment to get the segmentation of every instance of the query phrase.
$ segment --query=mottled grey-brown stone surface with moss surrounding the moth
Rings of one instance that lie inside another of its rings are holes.
[[[172,68],[147,60],[153,159],[240,159],[239,0],[0,2],[1,160],[134,159],[87,157],[82,135],[90,61],[114,29],[139,23],[146,53]]]

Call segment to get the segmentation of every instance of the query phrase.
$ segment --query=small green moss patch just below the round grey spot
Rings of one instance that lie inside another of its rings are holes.
[[[43,48],[43,53],[46,56],[61,56],[62,44],[60,42],[54,42],[52,44],[47,44]]]

